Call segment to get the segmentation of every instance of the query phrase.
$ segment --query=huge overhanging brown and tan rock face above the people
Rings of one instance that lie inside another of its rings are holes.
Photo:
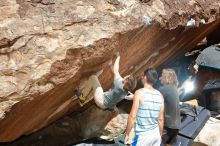
[[[5,0],[0,3],[0,142],[78,110],[73,91],[89,75],[105,89],[118,50],[122,75],[169,61],[220,25],[220,2]],[[193,18],[198,28],[185,28]],[[199,22],[206,22],[199,25]]]

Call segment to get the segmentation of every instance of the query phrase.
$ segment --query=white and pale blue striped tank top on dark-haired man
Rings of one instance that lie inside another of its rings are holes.
[[[139,105],[136,121],[136,135],[147,132],[158,127],[160,109],[163,105],[162,96],[157,90],[140,89],[144,95],[144,101]]]

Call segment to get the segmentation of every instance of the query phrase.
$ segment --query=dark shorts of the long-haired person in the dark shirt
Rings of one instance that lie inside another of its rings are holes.
[[[164,127],[162,143],[174,145],[176,143],[176,137],[179,132],[179,129],[171,129],[168,127]]]

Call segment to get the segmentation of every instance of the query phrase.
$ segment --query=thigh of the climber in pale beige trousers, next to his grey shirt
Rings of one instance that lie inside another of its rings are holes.
[[[101,109],[106,109],[104,106],[104,91],[96,75],[90,76],[90,82],[94,91],[94,101]]]

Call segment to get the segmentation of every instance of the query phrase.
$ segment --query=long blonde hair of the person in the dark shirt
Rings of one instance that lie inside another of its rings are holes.
[[[164,84],[170,84],[178,87],[179,82],[177,80],[176,73],[173,69],[163,69],[162,77],[164,78]]]

